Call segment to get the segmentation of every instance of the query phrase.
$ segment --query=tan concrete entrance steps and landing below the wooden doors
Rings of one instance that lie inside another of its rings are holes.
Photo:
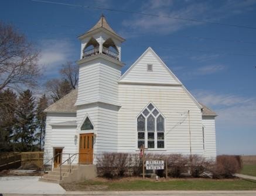
[[[88,180],[96,176],[96,167],[93,164],[72,164],[69,169],[69,165],[63,165],[61,175],[62,176],[60,176],[60,168],[57,167],[47,174],[44,174],[42,178],[39,178],[39,181],[60,184]]]

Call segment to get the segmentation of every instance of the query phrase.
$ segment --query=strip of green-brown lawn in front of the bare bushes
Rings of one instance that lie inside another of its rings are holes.
[[[170,180],[142,180],[140,178],[121,178],[105,180],[98,178],[80,183],[62,184],[67,191],[139,191],[139,190],[256,190],[256,181],[237,178],[213,180],[187,178]]]

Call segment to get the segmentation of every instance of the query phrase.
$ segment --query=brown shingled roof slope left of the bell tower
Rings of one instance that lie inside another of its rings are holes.
[[[76,106],[74,104],[77,100],[77,89],[71,90],[69,94],[57,100],[55,103],[47,107],[45,112],[63,112],[76,113]]]

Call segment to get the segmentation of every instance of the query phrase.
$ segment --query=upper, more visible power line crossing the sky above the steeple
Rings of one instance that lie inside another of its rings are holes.
[[[245,28],[245,29],[256,29],[256,27],[243,26],[243,25],[238,25],[238,24],[228,24],[228,23],[211,22],[211,21],[197,20],[197,19],[187,19],[184,17],[156,15],[156,14],[152,14],[152,13],[133,12],[133,11],[121,10],[121,9],[101,8],[98,6],[84,6],[84,5],[77,5],[77,4],[71,4],[71,3],[51,2],[51,1],[42,1],[42,0],[31,0],[31,1],[41,2],[41,3],[51,3],[51,4],[57,4],[57,5],[76,6],[76,7],[80,7],[80,8],[86,8],[86,9],[100,9],[100,10],[108,10],[111,12],[131,13],[131,14],[143,15],[143,16],[166,17],[166,18],[175,19],[175,20],[183,20],[183,21],[185,20],[185,21],[189,21],[189,22],[206,23],[206,24],[217,24],[217,25],[221,25],[221,26],[232,26],[232,27]]]

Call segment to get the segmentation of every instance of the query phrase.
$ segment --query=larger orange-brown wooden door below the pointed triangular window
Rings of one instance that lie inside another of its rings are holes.
[[[79,163],[93,164],[93,134],[80,134]]]

